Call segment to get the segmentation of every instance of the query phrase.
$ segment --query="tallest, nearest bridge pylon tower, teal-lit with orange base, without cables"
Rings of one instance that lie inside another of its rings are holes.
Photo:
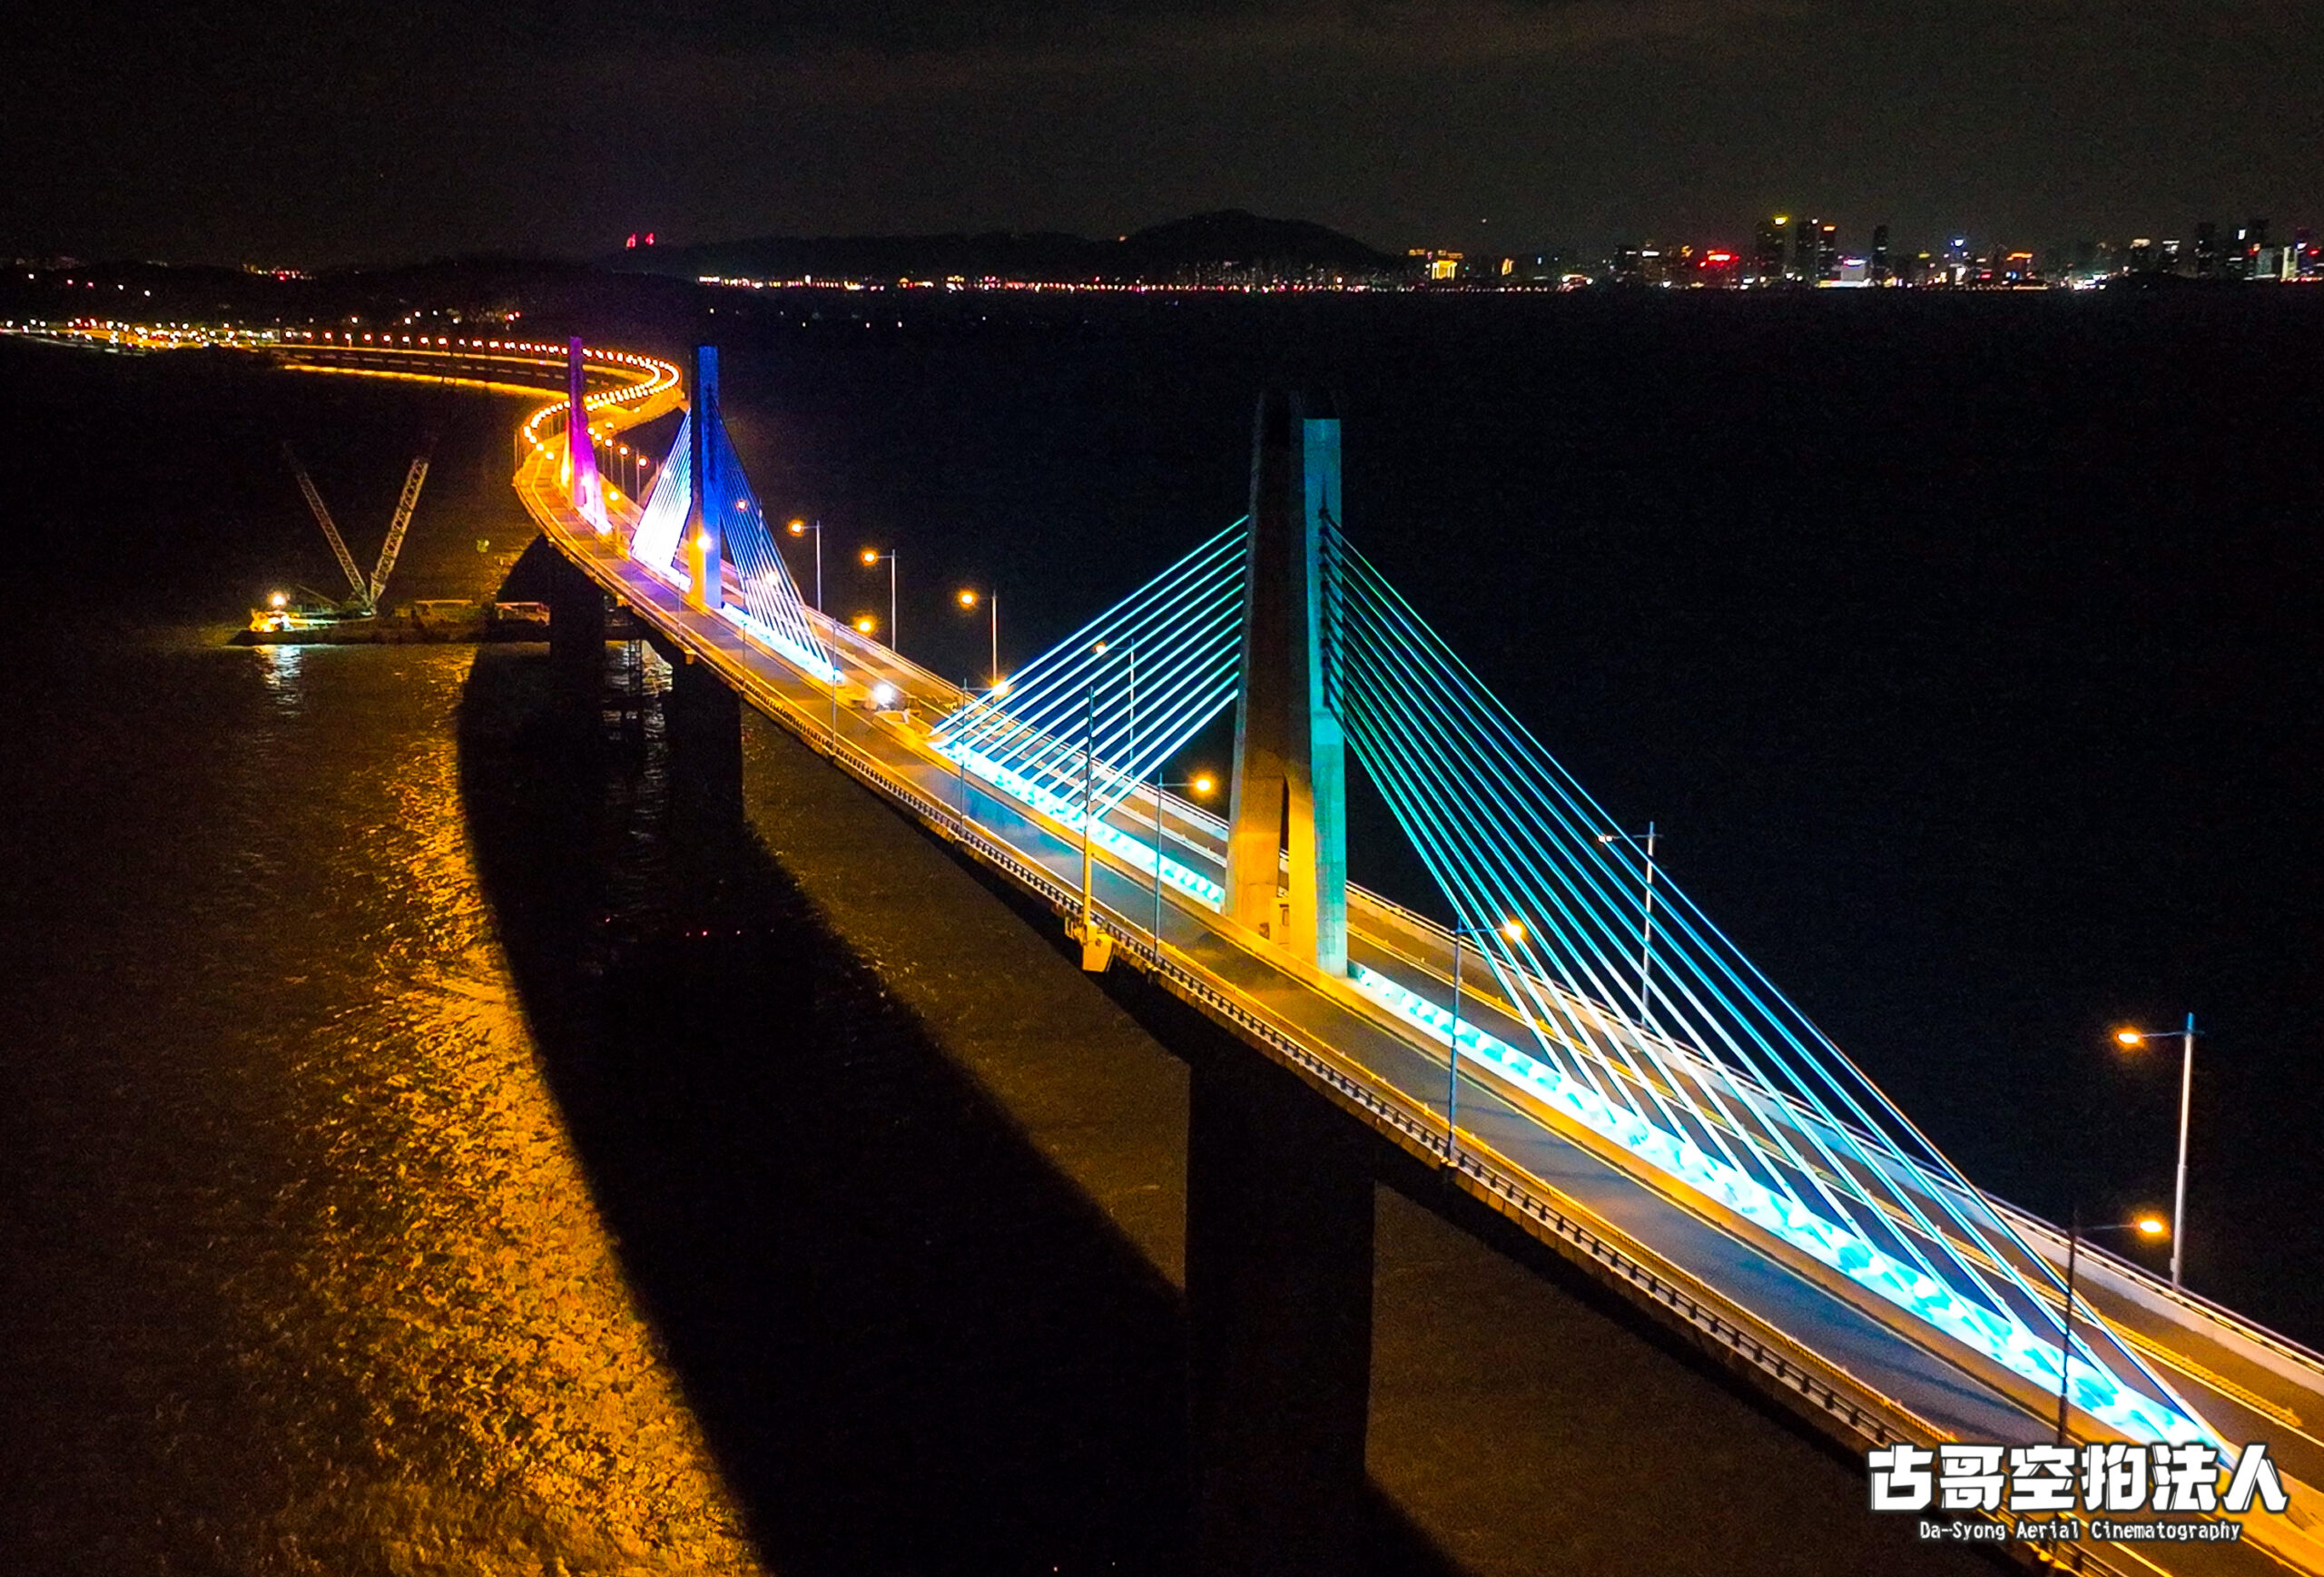
[[[1329,641],[1336,527],[1332,404],[1262,395],[1250,439],[1227,913],[1327,975],[1348,973],[1348,743]]]

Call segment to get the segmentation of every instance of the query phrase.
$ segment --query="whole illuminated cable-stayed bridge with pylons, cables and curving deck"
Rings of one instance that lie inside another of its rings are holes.
[[[690,379],[579,344],[272,353],[500,388],[562,372],[567,397],[518,432],[516,488],[572,564],[553,641],[576,683],[595,683],[618,604],[713,727],[748,701],[825,750],[1053,908],[1085,968],[1190,1003],[1827,1438],[2033,1445],[2064,1428],[2229,1461],[2264,1440],[2287,1517],[2250,1517],[2236,1544],[2085,1542],[2059,1561],[2324,1570],[2324,1359],[2087,1245],[2068,1319],[2064,1236],[1961,1178],[1364,560],[1341,525],[1329,409],[1262,402],[1243,520],[969,692],[802,602],[718,418],[711,353]],[[653,488],[621,497],[604,446],[681,386]],[[1229,713],[1234,771],[1211,808],[1167,773]],[[1457,924],[1346,880],[1350,769]],[[1220,1115],[1229,1101],[1197,1087],[1190,1136],[1195,1417],[1220,1463],[1197,1503],[1220,1526],[1320,1526],[1343,1510],[1327,1479],[1346,1475],[1350,1431],[1362,1475],[1364,1359],[1329,1319],[1287,1331],[1241,1303],[1253,1275],[1257,1303],[1348,1294],[1369,1226],[1346,1219],[1353,1191],[1318,1180],[1339,1161],[1264,1103]],[[1255,1273],[1260,1250],[1274,1261]],[[1239,1389],[1285,1387],[1325,1400],[1239,1417]],[[1274,1482],[1229,1482],[1253,1461],[1276,1463]]]

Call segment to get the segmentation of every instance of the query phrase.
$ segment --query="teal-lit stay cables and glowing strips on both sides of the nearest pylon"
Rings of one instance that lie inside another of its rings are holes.
[[[1239,694],[1241,523],[969,699],[934,748],[1122,864],[1218,908],[1204,871],[1106,822]],[[1459,1054],[1534,1106],[1838,1270],[1931,1333],[2054,1389],[2054,1270],[1901,1110],[1750,964],[1666,871],[1652,973],[1645,887],[1620,822],[1334,532],[1332,671],[1348,743],[1529,1027],[1462,1022]],[[1085,787],[1085,776],[1090,787]],[[1088,801],[1088,804],[1085,804]],[[1504,922],[1522,922],[1501,934]],[[1443,1006],[1353,980],[1448,1043]],[[2047,1333],[2047,1335],[2045,1335]],[[2071,1394],[2138,1440],[2215,1438],[2108,1326],[2078,1317]]]

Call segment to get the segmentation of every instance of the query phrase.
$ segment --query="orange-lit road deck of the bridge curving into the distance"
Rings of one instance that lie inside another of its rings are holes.
[[[363,355],[370,362],[365,372],[383,369],[379,353],[365,348]],[[304,360],[318,358],[309,351]],[[486,374],[474,355],[465,365],[476,381],[490,376],[495,383],[500,376],[539,379],[537,367],[535,360],[532,367]],[[602,372],[637,376],[634,362]],[[669,409],[672,399],[667,388],[658,388],[627,409],[609,411],[609,418],[630,425]],[[1060,913],[1078,908],[1078,831],[990,783],[962,778],[934,750],[932,722],[964,699],[957,687],[818,615],[818,634],[844,674],[837,687],[825,685],[727,618],[686,606],[676,588],[623,553],[621,530],[600,537],[574,516],[546,451],[521,444],[518,455],[516,490],[528,511],[607,595],[927,829]],[[632,518],[630,509],[616,509],[616,527]],[[897,708],[871,711],[876,683],[895,685]],[[1171,857],[1215,876],[1222,848],[1215,818],[1169,797],[1164,811]],[[1109,824],[1150,838],[1153,815],[1155,801],[1146,792],[1125,801]],[[1480,1064],[1462,1064],[1459,1131],[1448,1145],[1446,1047],[1353,985],[1297,966],[1171,887],[1162,892],[1157,927],[1153,878],[1104,850],[1092,890],[1102,924],[1118,938],[1118,959],[1153,971],[1167,989],[1304,1073],[1387,1140],[1450,1166],[1473,1196],[1594,1266],[1659,1317],[1683,1324],[1834,1438],[2050,1438],[2054,1396],[2045,1398],[2017,1375],[1915,1328],[1866,1289],[1757,1229],[1722,1219],[1708,1201],[1562,1119],[1525,1089],[1504,1085]],[[1452,948],[1441,929],[1369,894],[1350,894],[1350,936],[1355,962],[1432,1001],[1446,996]],[[1522,1043],[1525,1027],[1485,971],[1464,971],[1462,989],[1464,1022]],[[2010,1215],[2038,1252],[2061,1256],[2054,1229]],[[2161,1366],[2224,1438],[2268,1440],[2287,1472],[2301,1479],[2291,1486],[2291,1521],[2298,1526],[2259,1517],[2247,1524],[2247,1540],[2264,1538],[2280,1556],[2254,1542],[2082,1547],[2078,1558],[2085,1570],[2324,1570],[2324,1544],[2312,1538],[2317,1524],[2308,1510],[2315,1496],[2305,1489],[2324,1484],[2324,1359],[2175,1294],[2126,1261],[2085,1247],[2085,1266],[2094,1305]]]

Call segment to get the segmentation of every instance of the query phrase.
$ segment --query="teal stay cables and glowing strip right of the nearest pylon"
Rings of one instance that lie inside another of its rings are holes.
[[[2047,1261],[1666,871],[1648,980],[1645,887],[1624,864],[1622,822],[1362,553],[1341,543],[1336,562],[1339,685],[1360,762],[1459,924],[1522,922],[1515,941],[1497,936],[1478,952],[1534,1045],[1518,1052],[1480,1031],[1471,1047],[1464,1022],[1459,1054],[1950,1340],[2054,1387],[2064,1331]],[[1408,1022],[1441,1013],[1367,980]],[[2073,1396],[2085,1412],[2147,1440],[2210,1435],[2108,1326],[2075,1326]]]

